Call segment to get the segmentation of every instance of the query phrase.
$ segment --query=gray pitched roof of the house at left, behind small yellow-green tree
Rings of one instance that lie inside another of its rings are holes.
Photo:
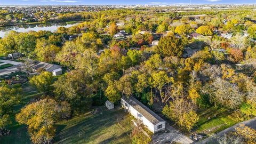
[[[35,69],[35,70],[38,70],[40,68],[43,68],[45,69],[46,71],[49,71],[49,72],[52,72],[53,70],[55,69],[59,69],[61,68],[61,66],[59,65],[54,65],[54,64],[51,64],[51,63],[46,63],[46,62],[36,62],[36,63],[33,63],[33,65],[31,66],[32,69]]]

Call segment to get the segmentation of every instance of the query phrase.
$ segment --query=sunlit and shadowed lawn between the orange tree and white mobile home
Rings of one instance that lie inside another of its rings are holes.
[[[131,143],[131,115],[123,109],[84,114],[57,123],[56,143]]]

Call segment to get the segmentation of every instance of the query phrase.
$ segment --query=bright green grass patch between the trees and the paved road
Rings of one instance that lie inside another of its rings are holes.
[[[220,132],[242,121],[236,117],[234,111],[229,111],[225,108],[211,107],[202,109],[199,111],[198,116],[199,121],[193,130],[196,133],[210,134]]]

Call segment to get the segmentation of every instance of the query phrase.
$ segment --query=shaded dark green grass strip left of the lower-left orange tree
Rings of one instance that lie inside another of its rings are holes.
[[[29,86],[27,83],[22,85],[23,93],[21,98],[21,103],[15,106],[15,114],[19,113],[20,109],[27,105],[27,103],[38,97],[41,93],[38,93],[33,87]],[[6,126],[6,129],[11,130],[11,134],[8,136],[0,137],[0,143],[31,143],[30,137],[25,125],[20,125],[15,121],[14,115],[11,116],[12,123]]]

